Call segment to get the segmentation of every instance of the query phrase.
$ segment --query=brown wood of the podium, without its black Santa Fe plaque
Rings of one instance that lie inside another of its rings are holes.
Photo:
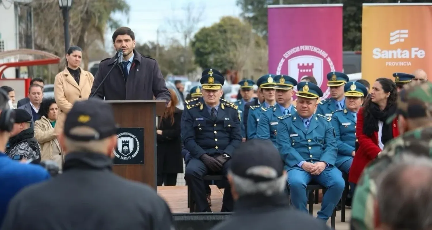
[[[165,101],[106,101],[114,110],[114,118],[121,128],[144,128],[144,164],[113,165],[114,173],[130,180],[156,185],[156,115]],[[158,110],[158,111],[157,111]],[[162,112],[163,114],[163,112]]]

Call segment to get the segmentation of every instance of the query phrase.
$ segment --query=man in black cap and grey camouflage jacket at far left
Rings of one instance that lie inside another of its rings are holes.
[[[10,158],[32,159],[40,162],[41,148],[35,139],[35,132],[31,128],[32,115],[25,110],[15,109],[15,123],[10,132],[9,147],[6,155]]]

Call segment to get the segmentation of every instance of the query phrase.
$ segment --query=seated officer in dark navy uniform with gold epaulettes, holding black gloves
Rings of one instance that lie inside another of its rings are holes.
[[[225,79],[208,74],[200,80],[203,97],[186,106],[181,135],[191,159],[184,177],[191,186],[198,212],[211,212],[206,201],[203,177],[223,174],[229,168],[229,159],[241,143],[240,113],[237,106],[220,99]],[[233,201],[229,186],[225,188],[221,211],[232,211]]]

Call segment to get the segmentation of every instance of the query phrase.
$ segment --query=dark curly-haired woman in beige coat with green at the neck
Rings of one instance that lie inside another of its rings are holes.
[[[35,139],[41,147],[41,161],[55,161],[62,167],[64,163],[63,152],[57,141],[54,126],[57,122],[58,107],[54,98],[44,99],[38,112],[41,117],[35,122]]]

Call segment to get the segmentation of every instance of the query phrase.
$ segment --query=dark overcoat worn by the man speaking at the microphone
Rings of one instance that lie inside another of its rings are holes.
[[[166,88],[158,62],[151,57],[141,55],[137,50],[133,50],[133,54],[135,56],[126,82],[122,67],[116,64],[116,57],[102,60],[90,96],[96,92],[94,97],[105,98],[107,101],[153,100],[153,96],[155,96],[157,100],[166,100],[168,104],[171,94]],[[96,88],[101,85],[102,80],[113,66],[110,75],[96,91]]]

